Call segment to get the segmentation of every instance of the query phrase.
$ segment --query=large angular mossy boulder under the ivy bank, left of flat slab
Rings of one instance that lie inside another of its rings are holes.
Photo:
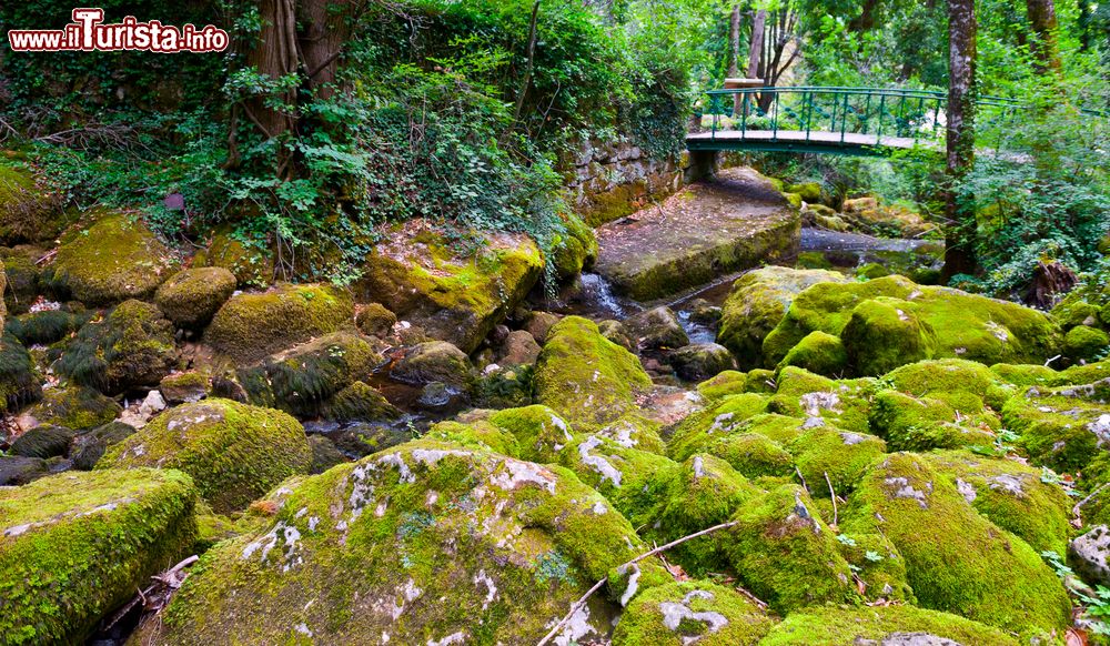
[[[385,231],[366,258],[355,292],[433,339],[474,352],[527,295],[543,269],[539,249],[526,235],[478,235],[482,245],[461,253],[458,245],[418,222]]]

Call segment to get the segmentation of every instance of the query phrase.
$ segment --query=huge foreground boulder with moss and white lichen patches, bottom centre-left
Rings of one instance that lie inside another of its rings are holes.
[[[431,440],[286,483],[271,499],[266,527],[202,557],[155,643],[532,644],[646,552],[566,470]],[[561,643],[607,635],[622,599],[670,578],[646,561],[627,574]]]

